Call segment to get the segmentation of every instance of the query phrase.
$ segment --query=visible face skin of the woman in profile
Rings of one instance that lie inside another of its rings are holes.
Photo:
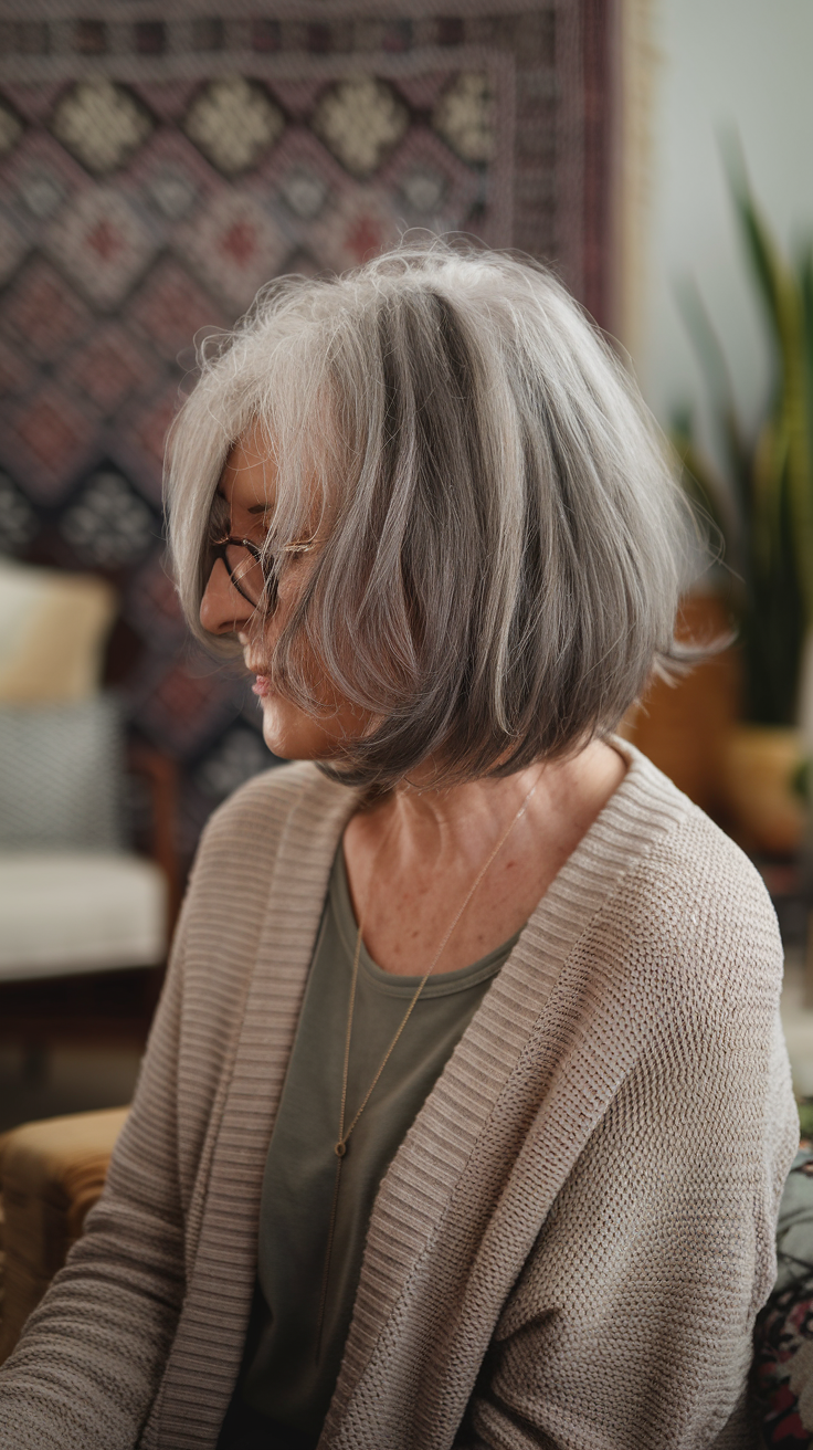
[[[275,467],[268,450],[262,448],[252,432],[245,434],[232,448],[217,493],[228,508],[229,534],[261,545],[275,502]],[[338,697],[323,680],[322,687],[316,684],[316,693],[329,713],[320,716],[306,713],[274,689],[270,673],[274,645],[291,616],[313,561],[314,552],[294,554],[285,560],[277,608],[270,616],[254,609],[235,589],[223,560],[214,563],[200,603],[200,622],[209,634],[238,635],[246,668],[257,676],[254,693],[262,706],[265,744],[283,760],[330,760],[343,740],[357,740],[371,721],[368,713]],[[316,658],[313,674],[319,682],[322,670]]]

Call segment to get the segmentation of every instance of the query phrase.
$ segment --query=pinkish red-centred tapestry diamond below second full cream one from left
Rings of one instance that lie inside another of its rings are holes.
[[[254,196],[230,190],[183,236],[203,280],[233,307],[248,307],[257,289],[275,277],[290,249]]]

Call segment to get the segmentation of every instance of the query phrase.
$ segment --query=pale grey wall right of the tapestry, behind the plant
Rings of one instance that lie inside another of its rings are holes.
[[[783,242],[813,236],[813,3],[628,0],[626,14],[636,51],[626,81],[639,109],[628,122],[628,165],[638,164],[638,175],[630,181],[628,173],[632,261],[622,335],[661,423],[683,402],[700,402],[703,383],[674,293],[678,278],[693,276],[752,416],[767,384],[767,354],[717,133],[723,126],[739,132],[755,191]]]

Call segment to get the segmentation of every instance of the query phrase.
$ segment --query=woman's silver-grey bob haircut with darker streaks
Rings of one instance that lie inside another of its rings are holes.
[[[401,244],[270,284],[203,345],[167,497],[184,612],[210,644],[210,510],[249,431],[274,464],[268,552],[313,532],[314,500],[322,518],[270,670],[312,713],[326,696],[371,712],[328,767],[342,780],[562,755],[680,657],[680,484],[635,383],[542,267]]]

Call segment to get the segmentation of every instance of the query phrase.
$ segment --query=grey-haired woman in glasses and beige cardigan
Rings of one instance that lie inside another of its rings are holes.
[[[168,486],[187,616],[296,764],[206,831],[4,1443],[755,1444],[781,950],[612,735],[685,541],[629,377],[545,271],[403,248],[261,294]]]

